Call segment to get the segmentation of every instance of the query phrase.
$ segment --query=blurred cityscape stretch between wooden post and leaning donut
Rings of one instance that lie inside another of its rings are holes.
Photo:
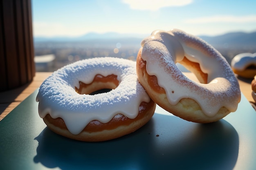
[[[36,71],[56,71],[67,64],[93,57],[119,57],[136,60],[140,41],[35,42]]]

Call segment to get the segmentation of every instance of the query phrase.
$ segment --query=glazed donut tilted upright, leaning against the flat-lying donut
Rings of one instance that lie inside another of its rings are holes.
[[[237,109],[241,92],[225,58],[200,38],[184,31],[156,30],[141,42],[137,75],[153,101],[182,119],[209,123]],[[179,62],[200,83],[186,77]]]

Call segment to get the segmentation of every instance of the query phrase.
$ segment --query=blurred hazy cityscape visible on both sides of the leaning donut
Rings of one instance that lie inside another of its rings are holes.
[[[212,39],[209,39],[209,37],[208,39],[205,37],[205,39],[211,44]],[[35,41],[36,71],[52,72],[67,64],[93,57],[121,57],[135,61],[141,40],[140,38],[123,38],[83,41]],[[256,39],[254,39],[254,43],[250,44],[212,41],[211,45],[227,59],[229,64],[232,58],[239,53],[256,53]]]

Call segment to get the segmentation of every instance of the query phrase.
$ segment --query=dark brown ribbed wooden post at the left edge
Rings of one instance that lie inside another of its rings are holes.
[[[35,75],[31,0],[0,0],[0,91]]]

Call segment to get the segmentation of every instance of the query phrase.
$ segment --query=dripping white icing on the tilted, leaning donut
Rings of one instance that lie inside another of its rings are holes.
[[[231,112],[240,102],[238,81],[225,58],[200,38],[184,31],[153,31],[141,42],[141,58],[146,60],[149,75],[157,76],[158,84],[166,91],[168,102],[177,104],[182,98],[194,99],[205,115],[214,116],[225,106]],[[176,66],[184,56],[198,62],[208,74],[207,84],[194,82]]]

